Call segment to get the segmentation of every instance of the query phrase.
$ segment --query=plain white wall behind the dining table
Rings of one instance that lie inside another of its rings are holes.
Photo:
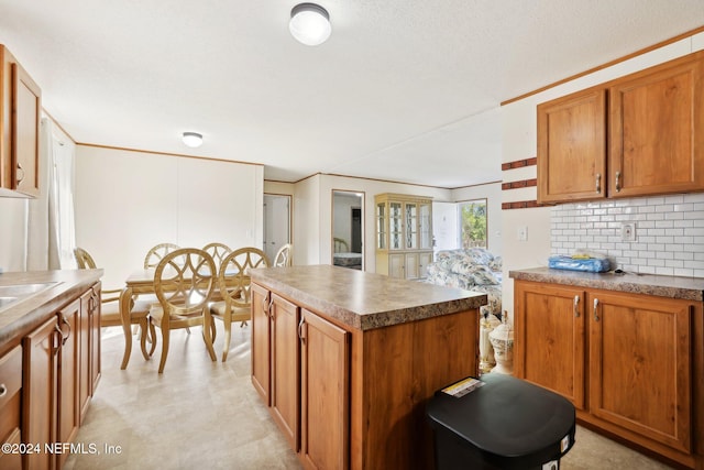
[[[122,285],[157,243],[261,247],[263,166],[78,145],[76,243]]]

